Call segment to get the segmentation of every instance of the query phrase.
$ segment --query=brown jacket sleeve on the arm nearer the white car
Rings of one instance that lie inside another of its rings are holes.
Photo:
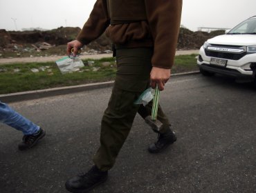
[[[154,41],[152,65],[172,68],[181,24],[182,0],[145,0]]]

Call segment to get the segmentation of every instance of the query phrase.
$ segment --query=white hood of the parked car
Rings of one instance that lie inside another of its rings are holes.
[[[208,39],[208,43],[220,45],[256,45],[256,34],[223,34]]]

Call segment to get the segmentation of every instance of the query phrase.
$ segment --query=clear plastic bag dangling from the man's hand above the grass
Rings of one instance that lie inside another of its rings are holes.
[[[63,57],[62,59],[57,60],[56,64],[62,74],[79,71],[81,67],[84,67],[82,60],[77,57],[75,59]]]

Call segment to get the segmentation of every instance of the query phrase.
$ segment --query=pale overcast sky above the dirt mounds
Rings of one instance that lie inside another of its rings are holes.
[[[82,28],[94,3],[95,0],[0,0],[0,29]],[[183,0],[181,24],[192,31],[199,27],[232,28],[256,15],[255,8],[256,0]]]

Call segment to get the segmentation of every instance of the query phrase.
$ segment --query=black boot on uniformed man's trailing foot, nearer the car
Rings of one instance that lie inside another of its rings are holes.
[[[176,140],[177,139],[174,132],[172,132],[172,130],[169,130],[164,134],[158,134],[158,141],[156,141],[156,143],[153,143],[152,145],[149,145],[148,150],[152,154],[157,154],[165,150],[169,145],[174,143]]]

